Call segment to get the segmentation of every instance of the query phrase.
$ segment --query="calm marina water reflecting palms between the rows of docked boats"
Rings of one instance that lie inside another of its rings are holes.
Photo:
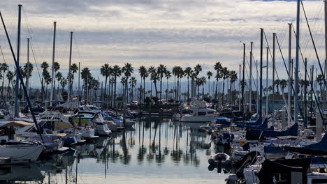
[[[1,168],[0,183],[225,183],[228,174],[208,170],[215,148],[198,126],[144,118],[41,163]]]

